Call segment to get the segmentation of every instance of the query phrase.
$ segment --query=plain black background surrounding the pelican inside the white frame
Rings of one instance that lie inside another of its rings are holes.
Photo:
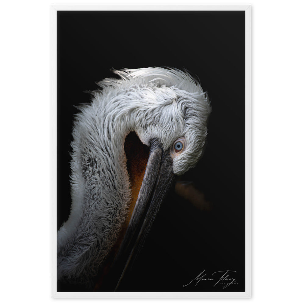
[[[234,270],[245,291],[245,13],[57,12],[57,226],[70,210],[73,105],[113,77],[110,69],[186,68],[208,91],[208,144],[183,180],[193,181],[213,210],[170,191],[121,291],[224,291],[188,284],[202,271]],[[233,273],[232,273],[233,275]]]

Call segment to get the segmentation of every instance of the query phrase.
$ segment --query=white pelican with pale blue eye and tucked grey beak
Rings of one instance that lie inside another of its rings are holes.
[[[120,283],[174,175],[201,157],[211,112],[187,71],[113,72],[118,77],[99,82],[75,117],[72,205],[57,233],[57,280],[89,289],[103,268]]]

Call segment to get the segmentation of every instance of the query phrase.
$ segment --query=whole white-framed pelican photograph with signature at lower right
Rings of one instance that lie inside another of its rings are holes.
[[[52,6],[52,297],[251,297],[251,6]]]

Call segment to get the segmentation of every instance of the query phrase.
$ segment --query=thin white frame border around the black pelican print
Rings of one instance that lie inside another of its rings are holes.
[[[57,99],[57,11],[245,11],[245,292],[57,292],[56,289],[56,99]],[[52,298],[251,298],[252,282],[252,192],[251,192],[251,5],[51,5],[51,297]]]

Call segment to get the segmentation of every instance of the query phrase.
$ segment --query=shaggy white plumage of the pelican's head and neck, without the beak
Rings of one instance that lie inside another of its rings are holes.
[[[75,117],[71,161],[72,206],[58,231],[58,279],[90,285],[117,240],[130,202],[124,140],[135,131],[145,145],[166,150],[179,137],[186,149],[173,160],[174,174],[198,162],[211,111],[206,92],[174,68],[114,70],[120,79],[99,82],[90,105]]]

